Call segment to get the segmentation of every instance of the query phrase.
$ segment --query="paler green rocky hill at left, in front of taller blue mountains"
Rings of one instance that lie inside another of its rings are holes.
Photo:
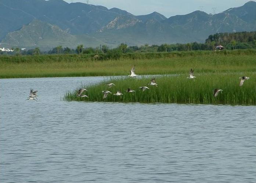
[[[75,48],[79,44],[88,47],[96,47],[100,44],[108,45],[91,36],[71,35],[56,25],[38,19],[33,19],[29,25],[23,26],[19,31],[8,33],[2,42],[17,47],[24,47],[25,45],[28,49],[40,47],[42,50],[49,50],[57,45],[70,48]]]

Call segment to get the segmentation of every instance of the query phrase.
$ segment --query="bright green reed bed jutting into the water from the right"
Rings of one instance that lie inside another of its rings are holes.
[[[239,86],[239,77],[249,76],[250,79]],[[66,101],[98,101],[98,102],[141,102],[141,103],[180,103],[180,104],[230,104],[230,105],[256,105],[256,73],[241,74],[195,74],[197,78],[187,79],[187,75],[156,77],[158,87],[149,86],[151,78],[128,78],[110,79],[95,85],[84,86],[88,91],[84,94],[89,98],[76,97],[76,92],[66,93]],[[108,88],[109,82],[116,86]],[[148,86],[150,89],[144,92],[140,86]],[[127,93],[127,88],[136,90]],[[222,89],[223,92],[215,98],[213,90]],[[103,99],[102,90],[109,90],[107,98]],[[114,96],[120,90],[123,95]]]

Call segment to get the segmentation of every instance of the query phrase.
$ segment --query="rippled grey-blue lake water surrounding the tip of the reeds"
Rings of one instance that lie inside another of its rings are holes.
[[[1,183],[256,182],[255,106],[61,101],[102,79],[0,79]]]

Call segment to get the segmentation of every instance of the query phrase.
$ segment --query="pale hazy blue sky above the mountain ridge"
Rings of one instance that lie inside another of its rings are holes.
[[[87,3],[87,0],[65,0]],[[227,10],[228,8],[244,5],[249,0],[89,0],[89,4],[102,5],[109,8],[119,8],[134,15],[150,14],[154,11],[165,15],[167,18],[173,15],[184,15],[195,10],[201,10],[213,14]],[[215,9],[216,8],[216,9]]]

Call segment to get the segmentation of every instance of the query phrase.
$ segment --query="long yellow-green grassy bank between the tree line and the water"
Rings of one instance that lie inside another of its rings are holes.
[[[0,78],[113,76],[128,75],[133,65],[136,74],[184,74],[255,72],[256,51],[192,51],[171,53],[123,54],[118,60],[99,60],[92,55],[0,56]]]

